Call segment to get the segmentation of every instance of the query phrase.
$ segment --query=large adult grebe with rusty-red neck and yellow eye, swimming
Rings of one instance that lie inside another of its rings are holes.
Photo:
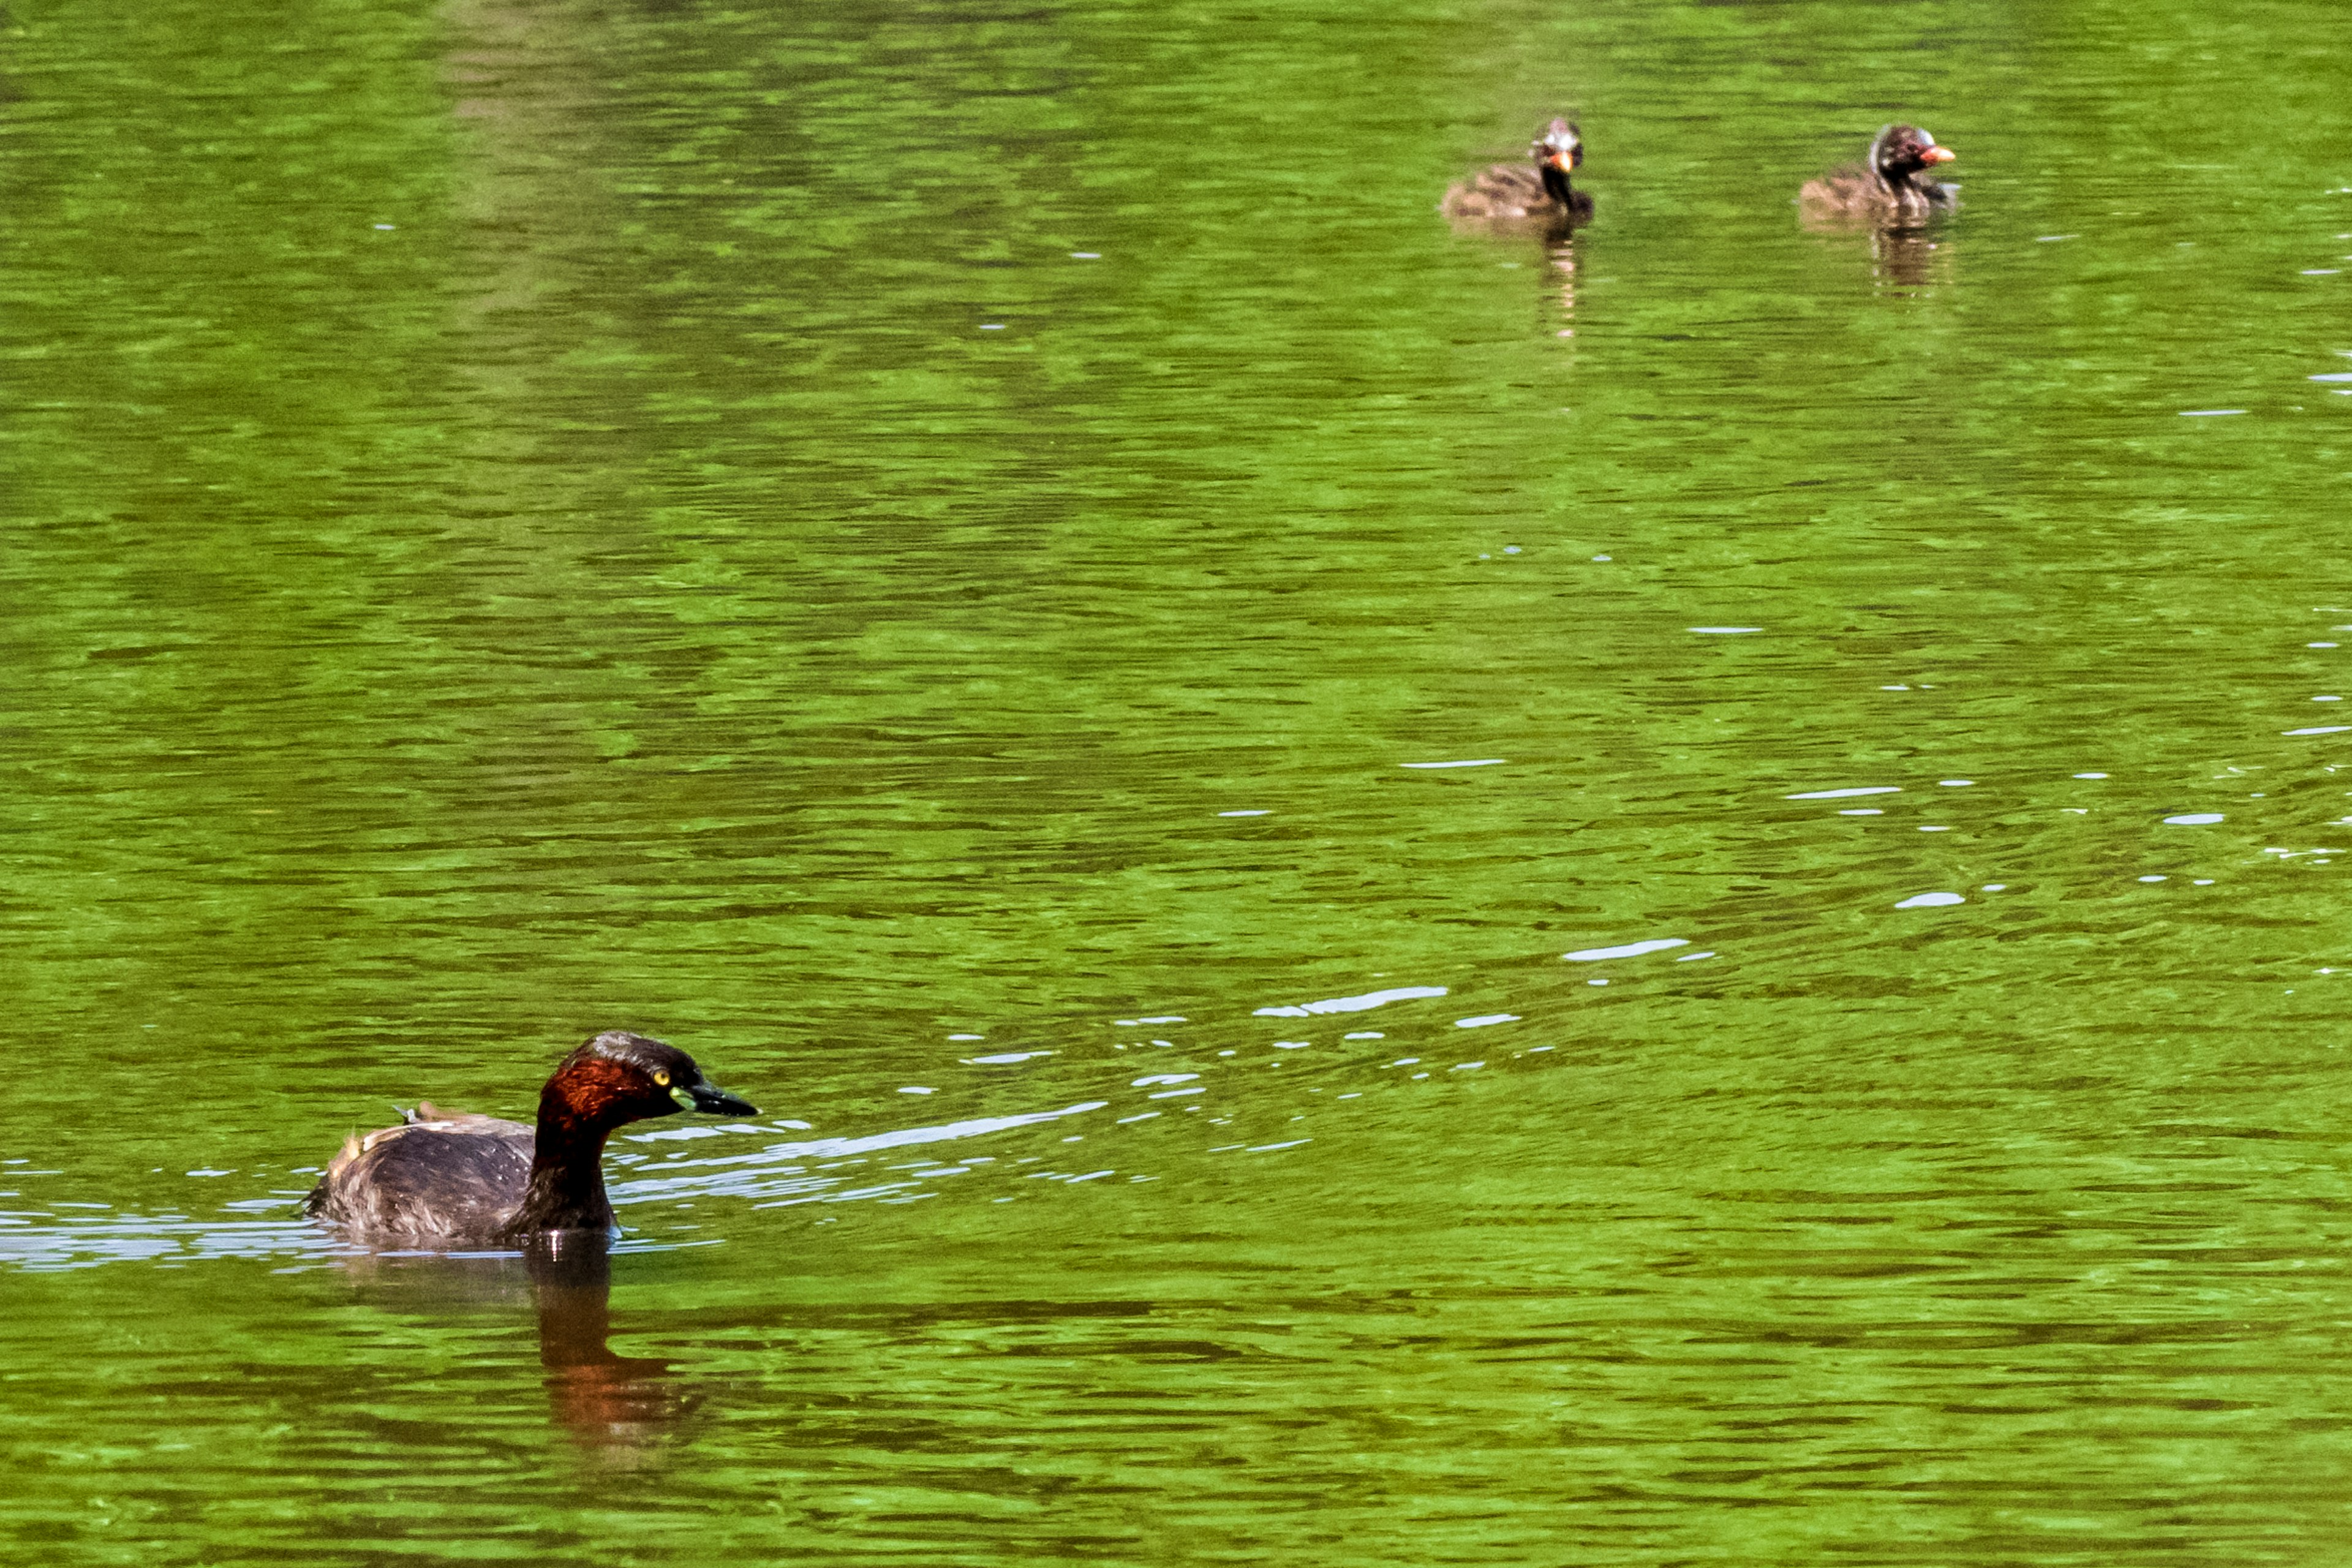
[[[539,1128],[419,1103],[402,1126],[343,1143],[303,1213],[365,1237],[520,1244],[560,1229],[612,1232],[604,1138],[630,1121],[699,1110],[757,1117],[694,1058],[609,1030],[539,1091]]]

